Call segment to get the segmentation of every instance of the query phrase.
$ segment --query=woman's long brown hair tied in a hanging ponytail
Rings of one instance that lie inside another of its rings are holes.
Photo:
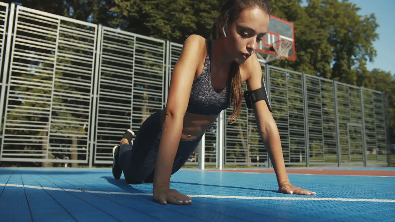
[[[246,8],[260,8],[270,15],[268,0],[227,0],[220,9],[220,14],[215,19],[211,38],[216,40],[222,34],[222,26],[225,30],[235,22],[241,11]],[[240,115],[241,103],[243,102],[243,92],[241,89],[240,64],[233,61],[229,68],[229,78],[231,78],[231,98],[233,98],[233,113],[228,118],[231,123],[235,122]]]

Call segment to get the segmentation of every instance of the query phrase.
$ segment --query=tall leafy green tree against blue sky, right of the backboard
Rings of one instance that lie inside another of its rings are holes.
[[[331,75],[325,77],[356,85],[357,70],[376,56],[373,42],[378,40],[374,14],[358,15],[358,8],[346,0],[308,0],[306,12],[318,21],[317,30],[327,32],[333,56]]]

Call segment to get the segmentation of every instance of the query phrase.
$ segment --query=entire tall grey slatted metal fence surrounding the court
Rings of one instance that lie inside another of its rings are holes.
[[[138,132],[165,106],[182,49],[3,3],[0,40],[0,161],[51,166],[112,164],[124,130]],[[381,92],[261,66],[287,166],[389,162]],[[252,109],[243,102],[228,124],[232,111],[221,113],[187,164],[270,166]]]

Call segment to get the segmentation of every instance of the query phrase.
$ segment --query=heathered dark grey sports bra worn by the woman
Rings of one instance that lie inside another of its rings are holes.
[[[200,115],[218,115],[229,108],[230,79],[222,90],[214,90],[211,85],[211,40],[207,40],[207,56],[201,75],[194,80],[186,111]]]

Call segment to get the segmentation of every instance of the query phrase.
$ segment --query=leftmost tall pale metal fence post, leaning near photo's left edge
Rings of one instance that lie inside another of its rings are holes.
[[[0,122],[3,120],[3,107],[4,107],[4,100],[6,99],[6,93],[5,93],[6,87],[9,87],[9,86],[7,86],[7,76],[9,74],[8,73],[8,63],[9,63],[9,58],[10,58],[9,55],[10,55],[10,50],[11,50],[11,38],[12,38],[12,29],[13,29],[13,24],[14,24],[14,14],[15,14],[15,4],[12,3],[11,7],[9,8],[6,53],[3,54],[4,55],[4,67],[3,67],[2,87],[1,87],[1,92],[0,92]],[[7,21],[7,17],[6,17],[6,21]],[[4,25],[6,25],[6,22],[4,23]],[[1,146],[0,146],[0,160],[1,160],[1,157],[3,154],[4,132],[5,132],[5,128],[6,128],[5,125],[6,125],[6,118],[4,117],[3,134],[2,134],[3,138],[1,139]]]

